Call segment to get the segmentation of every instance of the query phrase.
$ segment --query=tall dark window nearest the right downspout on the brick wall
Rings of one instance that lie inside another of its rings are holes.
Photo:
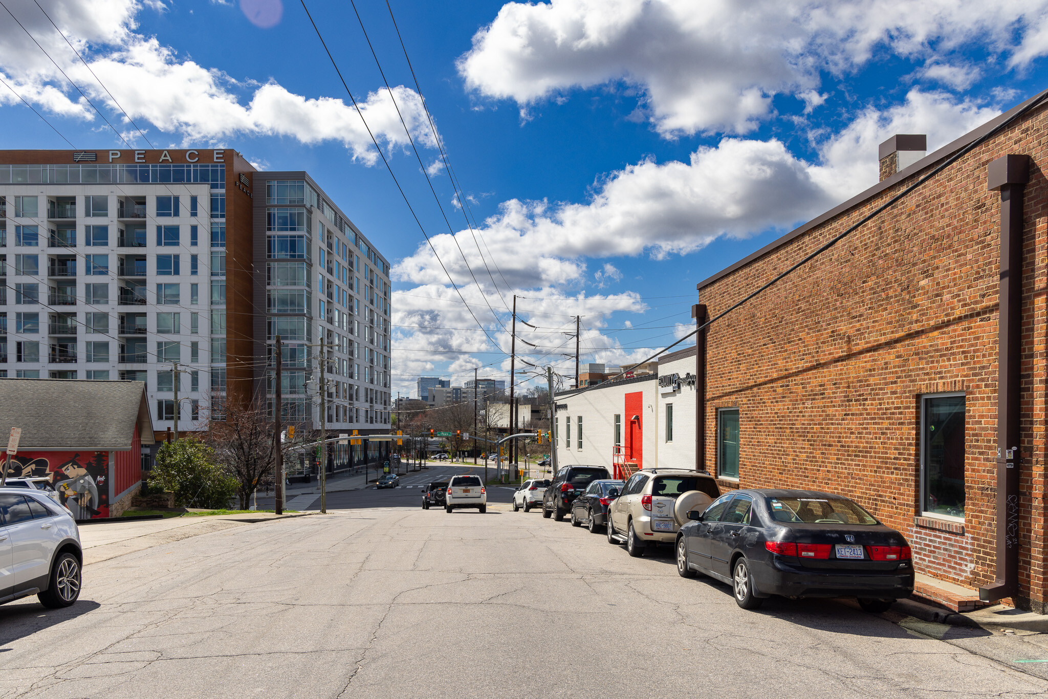
[[[964,394],[921,396],[921,501],[925,515],[964,518]]]

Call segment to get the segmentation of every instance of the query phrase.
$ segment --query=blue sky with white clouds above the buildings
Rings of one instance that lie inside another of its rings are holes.
[[[566,386],[575,315],[583,364],[646,359],[699,281],[874,184],[879,143],[1048,87],[1046,5],[0,0],[0,149],[306,170],[392,264],[394,395],[508,379],[515,296]]]

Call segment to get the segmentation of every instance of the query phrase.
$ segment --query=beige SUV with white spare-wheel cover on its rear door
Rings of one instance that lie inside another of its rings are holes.
[[[608,543],[626,542],[632,556],[648,546],[672,544],[687,522],[687,512],[700,512],[720,496],[707,473],[684,468],[645,468],[630,477],[608,508]]]

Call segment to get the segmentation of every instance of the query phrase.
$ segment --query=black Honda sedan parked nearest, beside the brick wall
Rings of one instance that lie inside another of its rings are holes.
[[[882,612],[914,589],[910,546],[848,498],[813,490],[735,490],[677,537],[677,572],[732,586],[743,609],[765,597],[858,597]]]

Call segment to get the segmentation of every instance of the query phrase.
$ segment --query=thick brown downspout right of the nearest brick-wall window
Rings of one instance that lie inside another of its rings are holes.
[[[1019,592],[1020,363],[1023,309],[1023,192],[1029,156],[989,163],[987,188],[1001,192],[1001,286],[997,381],[997,572],[979,598],[997,602]]]

